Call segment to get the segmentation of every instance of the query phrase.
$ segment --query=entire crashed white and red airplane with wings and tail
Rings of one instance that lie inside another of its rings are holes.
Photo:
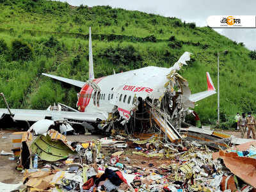
[[[50,127],[60,123],[60,132],[72,131],[71,126],[75,125],[90,131],[99,129],[106,132],[123,127],[128,133],[158,130],[165,133],[166,139],[177,141],[181,138],[180,124],[188,113],[193,112],[189,108],[194,108],[198,100],[216,93],[207,72],[208,89],[191,94],[188,81],[177,73],[182,65],[187,65],[190,55],[184,52],[170,68],[150,66],[95,79],[89,29],[88,81],[42,74],[81,88],[77,93],[78,111],[58,104],[58,107],[47,110],[0,109],[0,116],[12,116],[15,121],[37,122],[38,126],[31,129],[37,129],[38,133],[45,129],[40,128],[42,124]]]

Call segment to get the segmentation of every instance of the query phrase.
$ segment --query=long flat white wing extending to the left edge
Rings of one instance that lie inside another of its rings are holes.
[[[11,109],[14,120],[37,122],[42,119],[52,120],[81,120],[86,122],[96,122],[97,119],[106,120],[106,115],[102,113],[82,113],[74,111],[47,111],[32,109]],[[7,109],[0,109],[0,119],[4,115],[10,115]]]

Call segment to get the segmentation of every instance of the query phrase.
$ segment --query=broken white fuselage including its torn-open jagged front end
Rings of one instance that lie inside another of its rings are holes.
[[[77,108],[81,112],[102,113],[109,117],[108,122],[117,111],[118,119],[125,124],[136,111],[150,113],[148,109],[154,108],[177,127],[188,109],[194,107],[189,100],[188,82],[175,67],[145,67],[92,81],[95,88],[86,83],[77,95]],[[143,111],[141,104],[147,106]]]

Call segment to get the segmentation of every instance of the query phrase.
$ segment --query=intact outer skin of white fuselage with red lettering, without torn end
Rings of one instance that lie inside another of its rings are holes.
[[[151,66],[93,79],[100,90],[86,83],[78,95],[77,107],[81,112],[111,113],[117,106],[120,115],[129,118],[136,102],[134,97],[159,99],[163,96],[164,84],[170,81],[166,76],[171,70]]]

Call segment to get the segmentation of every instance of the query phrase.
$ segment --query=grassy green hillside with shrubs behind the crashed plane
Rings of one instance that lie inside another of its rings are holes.
[[[255,111],[256,61],[243,44],[211,28],[175,17],[44,0],[0,0],[0,10],[0,92],[12,108],[45,109],[53,102],[75,107],[75,88],[40,73],[86,81],[92,26],[96,77],[113,74],[113,68],[120,72],[149,65],[171,67],[189,51],[193,58],[180,74],[193,93],[202,92],[207,71],[217,86],[217,52],[225,51],[220,56],[221,118]],[[216,122],[216,101],[213,95],[197,103],[195,111],[203,124]]]

